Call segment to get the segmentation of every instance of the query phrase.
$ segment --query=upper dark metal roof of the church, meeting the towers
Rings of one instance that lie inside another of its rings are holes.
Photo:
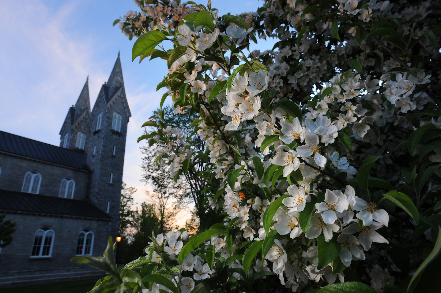
[[[0,130],[0,151],[90,171],[87,155]]]

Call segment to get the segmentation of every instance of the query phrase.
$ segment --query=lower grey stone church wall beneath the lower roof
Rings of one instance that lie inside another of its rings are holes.
[[[102,255],[110,236],[111,221],[20,214],[6,214],[5,220],[15,222],[16,231],[12,244],[1,251],[0,288],[48,279],[61,282],[75,277],[101,278],[100,271],[72,263],[70,259],[76,254],[78,234],[84,229],[94,233],[93,256]],[[52,256],[31,258],[35,233],[42,227],[50,227],[55,232]]]

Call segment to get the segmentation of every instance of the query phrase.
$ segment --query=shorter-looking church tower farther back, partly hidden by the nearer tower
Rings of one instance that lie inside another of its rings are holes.
[[[87,153],[90,126],[89,77],[87,77],[75,106],[72,105],[67,111],[60,130],[60,147]]]

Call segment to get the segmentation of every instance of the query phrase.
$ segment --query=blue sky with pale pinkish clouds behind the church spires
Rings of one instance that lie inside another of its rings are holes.
[[[205,1],[201,2],[206,4]],[[213,0],[220,15],[256,11],[258,0]],[[164,91],[156,85],[167,73],[165,60],[131,62],[129,41],[112,22],[131,0],[0,0],[0,130],[60,145],[60,128],[89,75],[91,106],[121,51],[124,83],[132,117],[128,125],[123,181],[135,186],[135,200],[145,199],[140,182],[141,153],[136,139],[141,125],[159,107]],[[273,41],[261,50],[272,48]]]

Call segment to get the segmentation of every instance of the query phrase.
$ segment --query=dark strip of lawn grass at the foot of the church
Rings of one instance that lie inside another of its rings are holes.
[[[61,282],[52,284],[31,285],[0,289],[0,293],[86,293],[92,290],[97,279]]]

